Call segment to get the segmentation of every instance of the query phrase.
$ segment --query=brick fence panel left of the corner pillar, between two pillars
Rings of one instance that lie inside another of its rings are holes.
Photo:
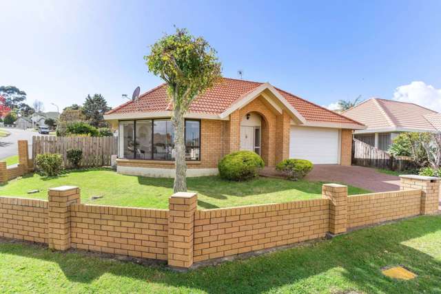
[[[72,248],[167,260],[168,211],[70,205]]]

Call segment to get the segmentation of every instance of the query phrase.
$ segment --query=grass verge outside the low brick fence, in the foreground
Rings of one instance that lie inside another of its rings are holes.
[[[382,275],[398,264],[416,279]],[[441,293],[441,216],[187,273],[0,243],[0,293]]]

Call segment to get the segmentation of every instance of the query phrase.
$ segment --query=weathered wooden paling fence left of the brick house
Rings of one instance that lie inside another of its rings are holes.
[[[110,165],[112,155],[118,153],[118,138],[110,137],[32,137],[32,160],[37,154],[61,154],[65,167],[71,167],[66,152],[69,149],[81,149],[83,159],[80,167],[102,167]]]

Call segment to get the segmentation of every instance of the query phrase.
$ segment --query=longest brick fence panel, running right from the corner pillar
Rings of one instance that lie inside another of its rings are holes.
[[[322,238],[329,200],[196,211],[194,262]]]

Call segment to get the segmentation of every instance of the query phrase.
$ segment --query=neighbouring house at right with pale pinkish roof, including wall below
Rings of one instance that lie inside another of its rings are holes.
[[[354,138],[384,151],[402,132],[441,130],[441,114],[414,103],[370,98],[342,114],[367,126],[357,129]]]

